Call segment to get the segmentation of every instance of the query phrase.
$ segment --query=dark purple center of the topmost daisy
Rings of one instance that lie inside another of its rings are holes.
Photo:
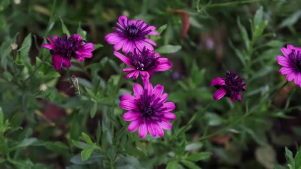
[[[151,30],[147,30],[149,25],[142,21],[135,21],[131,25],[129,25],[129,20],[127,23],[125,23],[125,20],[122,20],[122,22],[126,26],[122,27],[120,24],[117,24],[118,28],[115,30],[119,35],[128,38],[130,41],[143,40],[151,32]]]

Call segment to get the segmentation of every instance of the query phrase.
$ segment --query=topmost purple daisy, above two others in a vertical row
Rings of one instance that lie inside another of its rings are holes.
[[[142,51],[143,47],[153,50],[152,45],[157,44],[151,39],[146,38],[147,35],[158,35],[154,26],[149,26],[143,20],[128,20],[126,16],[119,16],[117,27],[113,27],[114,33],[109,33],[104,40],[109,44],[114,44],[114,50],[122,48],[122,52],[133,52],[134,48]],[[152,44],[152,45],[151,45]]]

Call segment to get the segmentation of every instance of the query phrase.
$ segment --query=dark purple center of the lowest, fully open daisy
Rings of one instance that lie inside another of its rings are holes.
[[[160,112],[163,112],[166,108],[162,107],[163,103],[159,103],[160,98],[154,100],[153,96],[154,95],[149,96],[145,91],[138,100],[138,111],[143,114],[142,118],[147,122],[160,122],[163,116]]]

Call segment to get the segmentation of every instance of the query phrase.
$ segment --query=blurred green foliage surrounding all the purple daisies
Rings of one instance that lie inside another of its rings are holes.
[[[275,57],[286,44],[301,45],[300,6],[300,0],[0,0],[0,107],[9,122],[0,123],[0,168],[286,169],[292,158],[285,147],[296,154],[300,145],[301,92],[289,83],[273,95],[285,83]],[[124,65],[103,39],[120,15],[154,25],[156,51],[173,64],[151,78],[177,105],[174,127],[162,139],[142,140],[122,120],[119,96],[141,80],[124,79]],[[40,48],[44,37],[66,30],[100,47],[85,63],[72,62],[79,88]],[[226,71],[245,79],[241,102],[212,99],[210,81]],[[41,84],[48,90],[39,91]],[[88,160],[82,150],[92,154]]]

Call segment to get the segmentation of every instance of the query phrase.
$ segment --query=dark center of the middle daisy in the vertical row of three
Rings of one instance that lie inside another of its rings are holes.
[[[155,57],[154,52],[143,48],[142,52],[134,49],[134,52],[130,53],[130,61],[133,67],[140,71],[150,71],[154,69],[157,64],[158,58]]]

